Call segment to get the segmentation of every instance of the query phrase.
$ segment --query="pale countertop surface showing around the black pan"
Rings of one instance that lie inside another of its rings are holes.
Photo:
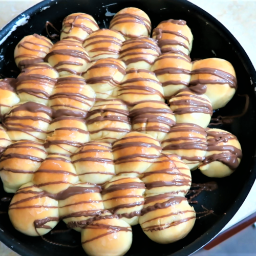
[[[10,20],[19,13],[39,2],[40,0],[0,0],[0,28],[10,22]],[[190,2],[200,6],[216,17],[234,35],[234,37],[238,39],[249,55],[254,67],[256,67],[256,51],[254,49],[256,45],[256,0],[190,0]],[[240,210],[223,230],[238,223],[256,211],[255,195],[256,182]],[[16,256],[17,254],[0,242],[0,255]]]

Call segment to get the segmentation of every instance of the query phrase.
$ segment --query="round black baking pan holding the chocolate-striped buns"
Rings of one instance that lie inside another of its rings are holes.
[[[139,225],[134,226],[133,245],[126,254],[129,256],[187,256],[212,240],[231,220],[247,197],[256,178],[256,99],[254,93],[256,73],[239,42],[217,19],[185,0],[43,1],[20,14],[0,31],[0,42],[2,41],[0,45],[0,74],[6,77],[17,76],[18,69],[13,59],[15,46],[20,39],[29,34],[38,33],[47,36],[46,21],[51,22],[60,30],[63,18],[74,12],[84,12],[93,15],[100,28],[108,28],[114,13],[131,6],[145,11],[151,18],[153,28],[162,20],[170,18],[186,20],[194,35],[192,59],[219,57],[232,63],[237,73],[238,92],[225,108],[214,113],[215,116],[240,114],[244,109],[245,98],[239,95],[247,94],[250,99],[245,115],[234,118],[230,124],[217,126],[236,135],[241,143],[243,159],[236,172],[222,179],[207,178],[198,170],[192,173],[194,183],[217,182],[218,189],[203,191],[196,198],[198,204],[194,205],[197,212],[203,210],[201,206],[203,205],[207,209],[214,210],[215,214],[197,219],[193,230],[186,238],[168,245],[152,242]],[[27,23],[16,27],[15,24],[21,18]],[[10,31],[13,32],[10,33]],[[4,192],[2,184],[0,184],[0,196],[0,198],[12,196]],[[8,205],[9,202],[0,200],[0,212],[8,211]],[[54,230],[62,228],[65,228],[65,225],[59,223]],[[85,255],[80,246],[80,234],[74,230],[47,234],[45,238],[55,243],[78,245],[78,247],[54,245],[40,237],[25,236],[13,228],[7,214],[0,214],[0,240],[22,256]]]

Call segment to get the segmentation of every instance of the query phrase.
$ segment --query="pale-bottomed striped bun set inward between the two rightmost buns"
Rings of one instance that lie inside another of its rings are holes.
[[[210,99],[201,92],[191,90],[182,89],[171,97],[170,109],[174,112],[176,123],[194,123],[206,128],[212,116]]]

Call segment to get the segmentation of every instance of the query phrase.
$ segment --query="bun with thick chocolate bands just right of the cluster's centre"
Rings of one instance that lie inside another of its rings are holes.
[[[129,116],[135,131],[150,134],[158,140],[163,140],[176,122],[173,111],[161,101],[139,103],[131,109]]]

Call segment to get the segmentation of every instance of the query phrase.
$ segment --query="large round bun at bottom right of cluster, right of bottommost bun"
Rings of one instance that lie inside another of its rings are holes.
[[[140,226],[154,242],[169,244],[184,238],[193,228],[196,212],[187,199],[172,194],[153,194],[145,198]]]

